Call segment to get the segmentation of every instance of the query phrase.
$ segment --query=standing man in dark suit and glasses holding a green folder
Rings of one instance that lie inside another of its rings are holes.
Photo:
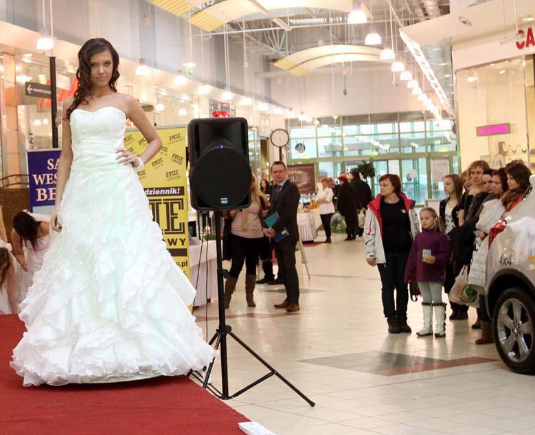
[[[271,166],[271,176],[277,186],[273,188],[270,197],[269,215],[277,212],[277,221],[271,228],[264,228],[264,235],[271,238],[275,247],[275,256],[279,265],[278,276],[282,278],[286,288],[286,299],[282,304],[275,304],[275,308],[286,311],[299,311],[299,278],[295,269],[295,245],[299,241],[297,230],[297,207],[299,205],[299,190],[288,180],[288,170],[284,161],[275,161]],[[286,236],[277,240],[281,233]]]

